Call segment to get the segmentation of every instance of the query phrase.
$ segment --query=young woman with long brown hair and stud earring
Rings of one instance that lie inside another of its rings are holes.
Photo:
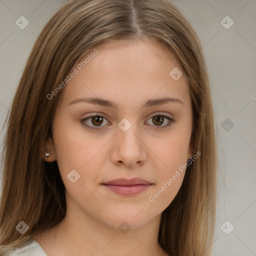
[[[201,44],[167,0],[69,0],[8,116],[1,255],[210,255],[216,152]]]

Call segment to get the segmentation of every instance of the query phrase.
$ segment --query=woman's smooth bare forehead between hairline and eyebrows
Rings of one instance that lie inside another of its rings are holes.
[[[91,54],[92,49],[78,60],[77,73],[61,92],[61,102],[81,96],[115,98],[117,102],[138,96],[152,98],[154,94],[185,100],[187,80],[184,76],[174,80],[169,75],[173,68],[182,68],[161,44],[152,40],[114,41],[94,49],[96,54]]]

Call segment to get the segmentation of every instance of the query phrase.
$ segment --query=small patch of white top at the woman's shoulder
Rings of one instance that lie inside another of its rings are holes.
[[[40,244],[30,238],[26,245],[18,248],[18,249],[8,249],[4,251],[2,256],[46,256]]]

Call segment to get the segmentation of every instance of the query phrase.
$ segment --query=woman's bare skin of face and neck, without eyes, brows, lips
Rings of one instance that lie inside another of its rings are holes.
[[[193,154],[187,80],[183,75],[178,80],[169,75],[174,67],[182,68],[169,51],[152,40],[117,41],[97,49],[99,52],[62,89],[52,139],[47,141],[50,156],[45,160],[57,160],[66,188],[66,216],[33,238],[51,256],[167,255],[157,241],[160,217],[178,192],[185,172],[154,202],[148,198]],[[85,102],[69,104],[89,96],[111,100],[118,109]],[[148,99],[166,96],[183,104],[141,108]],[[83,123],[97,129],[83,126],[81,119],[95,113],[105,119],[93,122],[90,118]],[[161,124],[152,118],[154,114],[167,115],[174,122],[157,129],[168,119]],[[123,118],[131,123],[126,131],[118,127]],[[74,183],[67,178],[72,169],[80,175]],[[121,177],[140,177],[153,185],[131,196],[116,194],[102,185]],[[124,220],[131,227],[127,233],[118,229]]]

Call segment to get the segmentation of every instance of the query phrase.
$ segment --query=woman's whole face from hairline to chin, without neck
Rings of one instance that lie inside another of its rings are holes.
[[[57,160],[67,211],[136,228],[159,217],[182,183],[177,170],[192,155],[188,83],[170,76],[180,64],[151,40],[97,50],[61,90],[47,160]],[[128,181],[109,183],[119,178]]]

